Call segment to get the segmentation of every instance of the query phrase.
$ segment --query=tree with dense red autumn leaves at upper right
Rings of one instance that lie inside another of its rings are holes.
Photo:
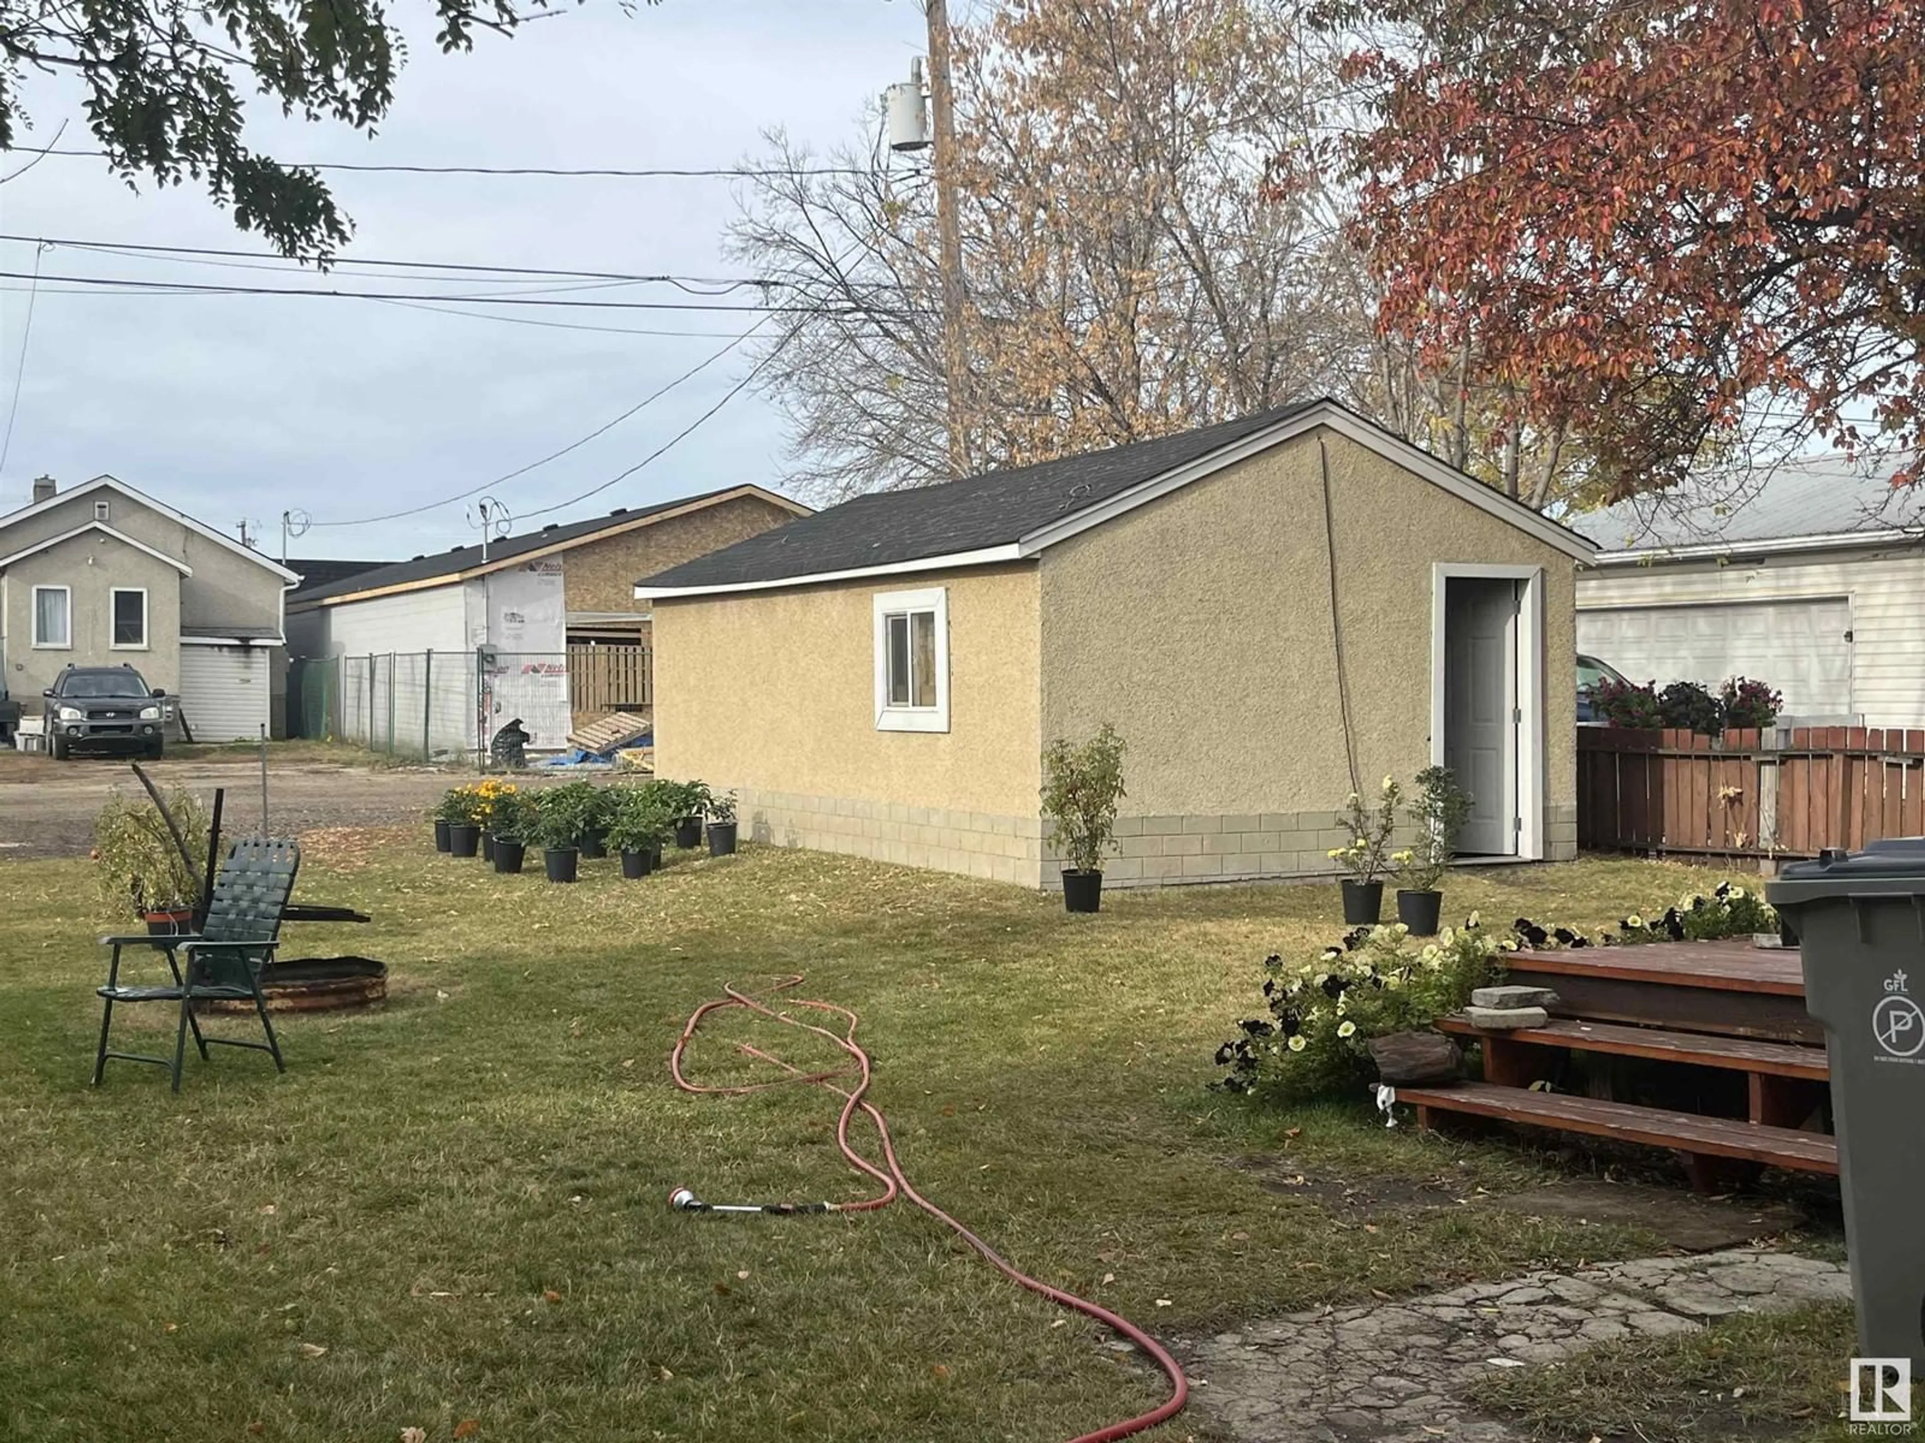
[[[1369,10],[1353,235],[1475,410],[1604,498],[1759,418],[1925,441],[1925,4]]]

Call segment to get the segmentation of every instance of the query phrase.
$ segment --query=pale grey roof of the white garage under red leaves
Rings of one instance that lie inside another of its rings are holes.
[[[1886,462],[1867,473],[1844,456],[1811,456],[1748,477],[1694,477],[1571,523],[1604,552],[1879,535],[1925,521],[1917,491],[1892,491],[1894,469]]]

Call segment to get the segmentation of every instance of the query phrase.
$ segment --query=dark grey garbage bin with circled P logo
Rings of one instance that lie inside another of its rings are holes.
[[[1796,862],[1765,899],[1825,1024],[1860,1354],[1925,1374],[1925,837]]]

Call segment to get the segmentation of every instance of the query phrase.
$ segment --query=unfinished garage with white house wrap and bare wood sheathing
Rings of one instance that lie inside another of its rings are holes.
[[[593,716],[647,720],[635,575],[807,514],[735,485],[306,585],[287,600],[291,710],[304,735],[414,752],[487,747],[510,720],[535,748]]]

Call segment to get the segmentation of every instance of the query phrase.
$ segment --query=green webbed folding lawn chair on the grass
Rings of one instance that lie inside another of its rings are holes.
[[[214,879],[214,900],[198,933],[191,937],[102,937],[102,947],[114,949],[108,964],[106,987],[94,991],[106,999],[100,1014],[100,1051],[94,1054],[94,1085],[108,1058],[123,1062],[156,1062],[173,1070],[173,1091],[181,1091],[181,1056],[187,1051],[187,1033],[192,1029],[194,1047],[200,1058],[208,1056],[208,1043],[223,1047],[254,1047],[273,1056],[273,1066],[281,1064],[281,1045],[273,1039],[273,1024],[268,1020],[268,1002],[260,995],[260,970],[273,958],[279,947],[281,910],[287,895],[295,891],[295,872],[300,870],[300,847],[293,841],[250,839],[237,841],[221,862]],[[127,987],[119,979],[119,954],[123,947],[158,947],[167,958],[173,985]],[[181,958],[187,960],[183,972]],[[196,1000],[248,1000],[260,1016],[260,1025],[268,1033],[266,1043],[241,1041],[237,1037],[202,1037],[200,1022],[194,1020]],[[141,1052],[110,1052],[108,1029],[114,1025],[116,1002],[179,1002],[181,1025],[173,1035],[173,1060],[146,1056]]]

